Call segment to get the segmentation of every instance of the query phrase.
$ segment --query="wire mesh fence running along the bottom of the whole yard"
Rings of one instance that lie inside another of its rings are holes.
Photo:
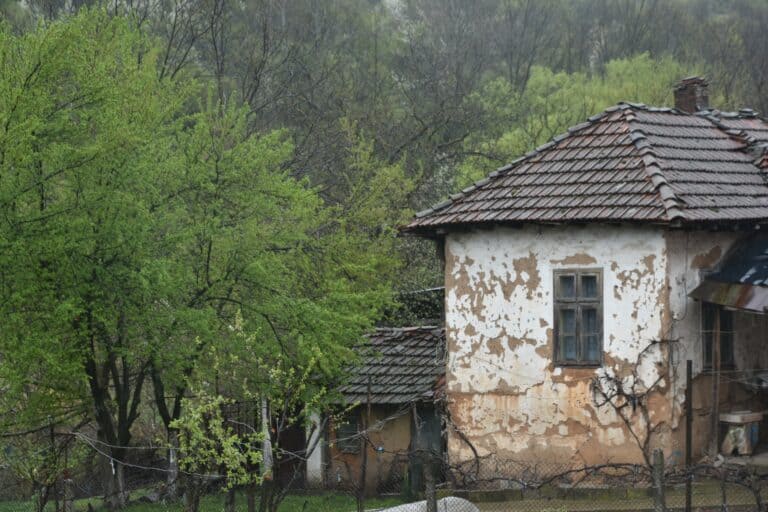
[[[647,466],[597,464],[573,466],[541,461],[485,457],[458,464],[412,453],[399,461],[388,478],[366,480],[352,471],[338,478],[326,468],[324,480],[282,488],[277,479],[272,493],[280,493],[275,508],[261,508],[264,485],[227,489],[223,479],[210,479],[194,489],[202,497],[197,508],[184,494],[164,494],[162,475],[128,473],[128,512],[246,512],[376,511],[765,511],[768,468],[739,464]],[[368,468],[371,469],[371,468]],[[33,489],[0,473],[0,512],[86,512],[105,510],[99,474],[68,475],[49,489]],[[199,484],[199,482],[198,482]],[[690,485],[690,508],[686,509]],[[45,505],[42,505],[45,501]]]

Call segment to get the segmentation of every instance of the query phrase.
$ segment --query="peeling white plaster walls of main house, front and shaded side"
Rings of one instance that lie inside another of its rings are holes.
[[[702,373],[701,305],[688,298],[748,233],[659,226],[526,226],[451,233],[445,243],[446,386],[455,432],[449,456],[472,451],[558,462],[639,462],[630,426],[610,407],[595,406],[595,377],[617,375],[646,397],[652,446],[679,462],[684,449],[685,361],[694,363],[694,453],[710,435],[711,376]],[[557,367],[553,355],[553,278],[558,269],[601,269],[601,368]],[[766,317],[735,313],[737,369],[768,368]],[[633,373],[638,354],[654,345]],[[660,380],[659,380],[660,379]],[[760,407],[729,379],[720,410]],[[735,381],[734,381],[735,382]]]

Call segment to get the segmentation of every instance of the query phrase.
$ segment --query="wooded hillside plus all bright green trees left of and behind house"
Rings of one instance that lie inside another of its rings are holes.
[[[306,420],[397,293],[442,284],[397,227],[568,126],[669,106],[692,74],[713,106],[768,112],[764,0],[0,13],[0,432],[38,490],[93,455],[41,455],[49,430],[121,461],[137,437],[237,452],[200,437],[222,395]],[[240,456],[186,464],[259,480],[244,468],[263,453]],[[118,508],[122,475],[104,475]]]

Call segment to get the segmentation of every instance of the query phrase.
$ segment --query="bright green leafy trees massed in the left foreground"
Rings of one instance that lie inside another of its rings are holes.
[[[365,191],[326,206],[292,177],[287,135],[253,134],[246,110],[188,114],[195,84],[158,80],[127,19],[83,11],[0,38],[4,419],[92,418],[119,508],[149,382],[172,432],[237,312],[285,365],[335,378],[390,300],[393,226],[362,216],[381,199]]]

